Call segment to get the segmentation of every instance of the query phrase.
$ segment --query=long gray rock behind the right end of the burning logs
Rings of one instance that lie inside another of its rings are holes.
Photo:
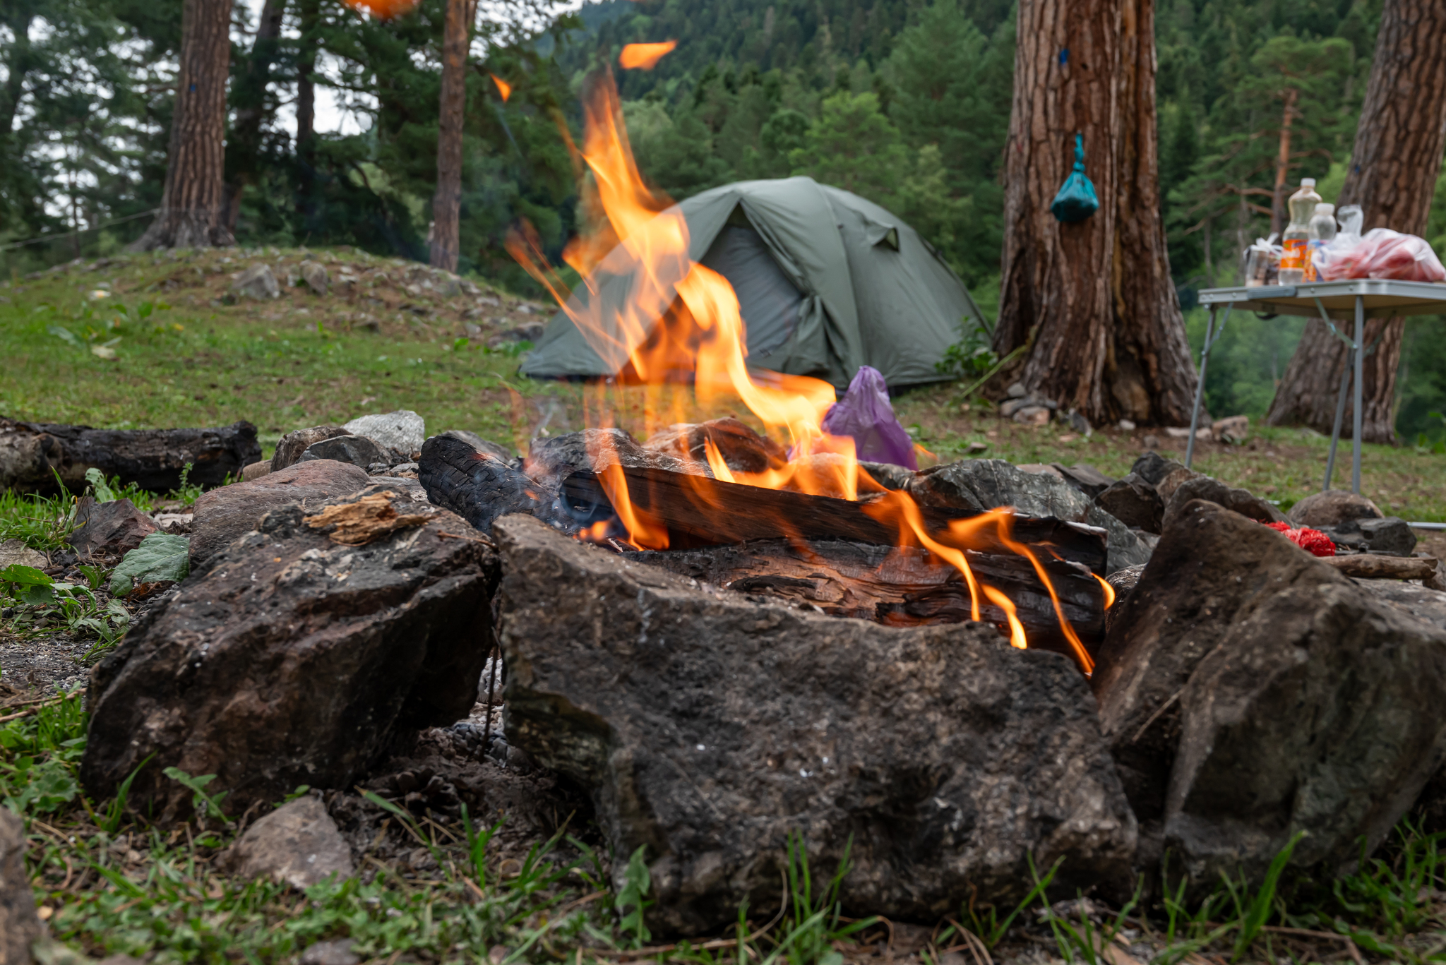
[[[980,512],[1014,506],[1027,516],[1056,516],[1099,527],[1108,534],[1109,573],[1150,560],[1150,547],[1129,527],[1050,472],[1027,473],[1002,459],[970,459],[921,469],[907,490],[924,506]]]

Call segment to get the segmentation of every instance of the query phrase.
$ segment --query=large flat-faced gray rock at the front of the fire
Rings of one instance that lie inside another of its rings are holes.
[[[659,930],[777,907],[785,836],[843,904],[937,920],[1129,864],[1135,822],[1089,687],[991,626],[891,629],[750,602],[522,515],[503,557],[508,741],[586,787],[612,854],[645,846]]]

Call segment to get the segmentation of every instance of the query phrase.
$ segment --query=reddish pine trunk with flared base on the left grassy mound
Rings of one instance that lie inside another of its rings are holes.
[[[231,245],[226,230],[226,80],[231,0],[185,0],[181,77],[161,213],[132,250]]]

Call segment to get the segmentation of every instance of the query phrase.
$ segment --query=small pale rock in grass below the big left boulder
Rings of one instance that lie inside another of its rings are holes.
[[[328,875],[356,874],[351,846],[325,804],[307,796],[282,804],[246,829],[227,855],[236,874],[309,888]]]

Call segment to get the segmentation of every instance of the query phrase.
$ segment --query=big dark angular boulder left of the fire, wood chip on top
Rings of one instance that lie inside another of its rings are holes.
[[[93,794],[114,794],[155,754],[130,788],[139,807],[185,816],[191,793],[162,775],[179,767],[215,774],[241,813],[298,784],[350,787],[393,741],[467,716],[496,557],[458,516],[380,490],[309,516],[270,512],[136,621],[91,674],[81,780]],[[351,522],[377,535],[343,545],[360,528],[338,518],[353,509],[373,509]]]

